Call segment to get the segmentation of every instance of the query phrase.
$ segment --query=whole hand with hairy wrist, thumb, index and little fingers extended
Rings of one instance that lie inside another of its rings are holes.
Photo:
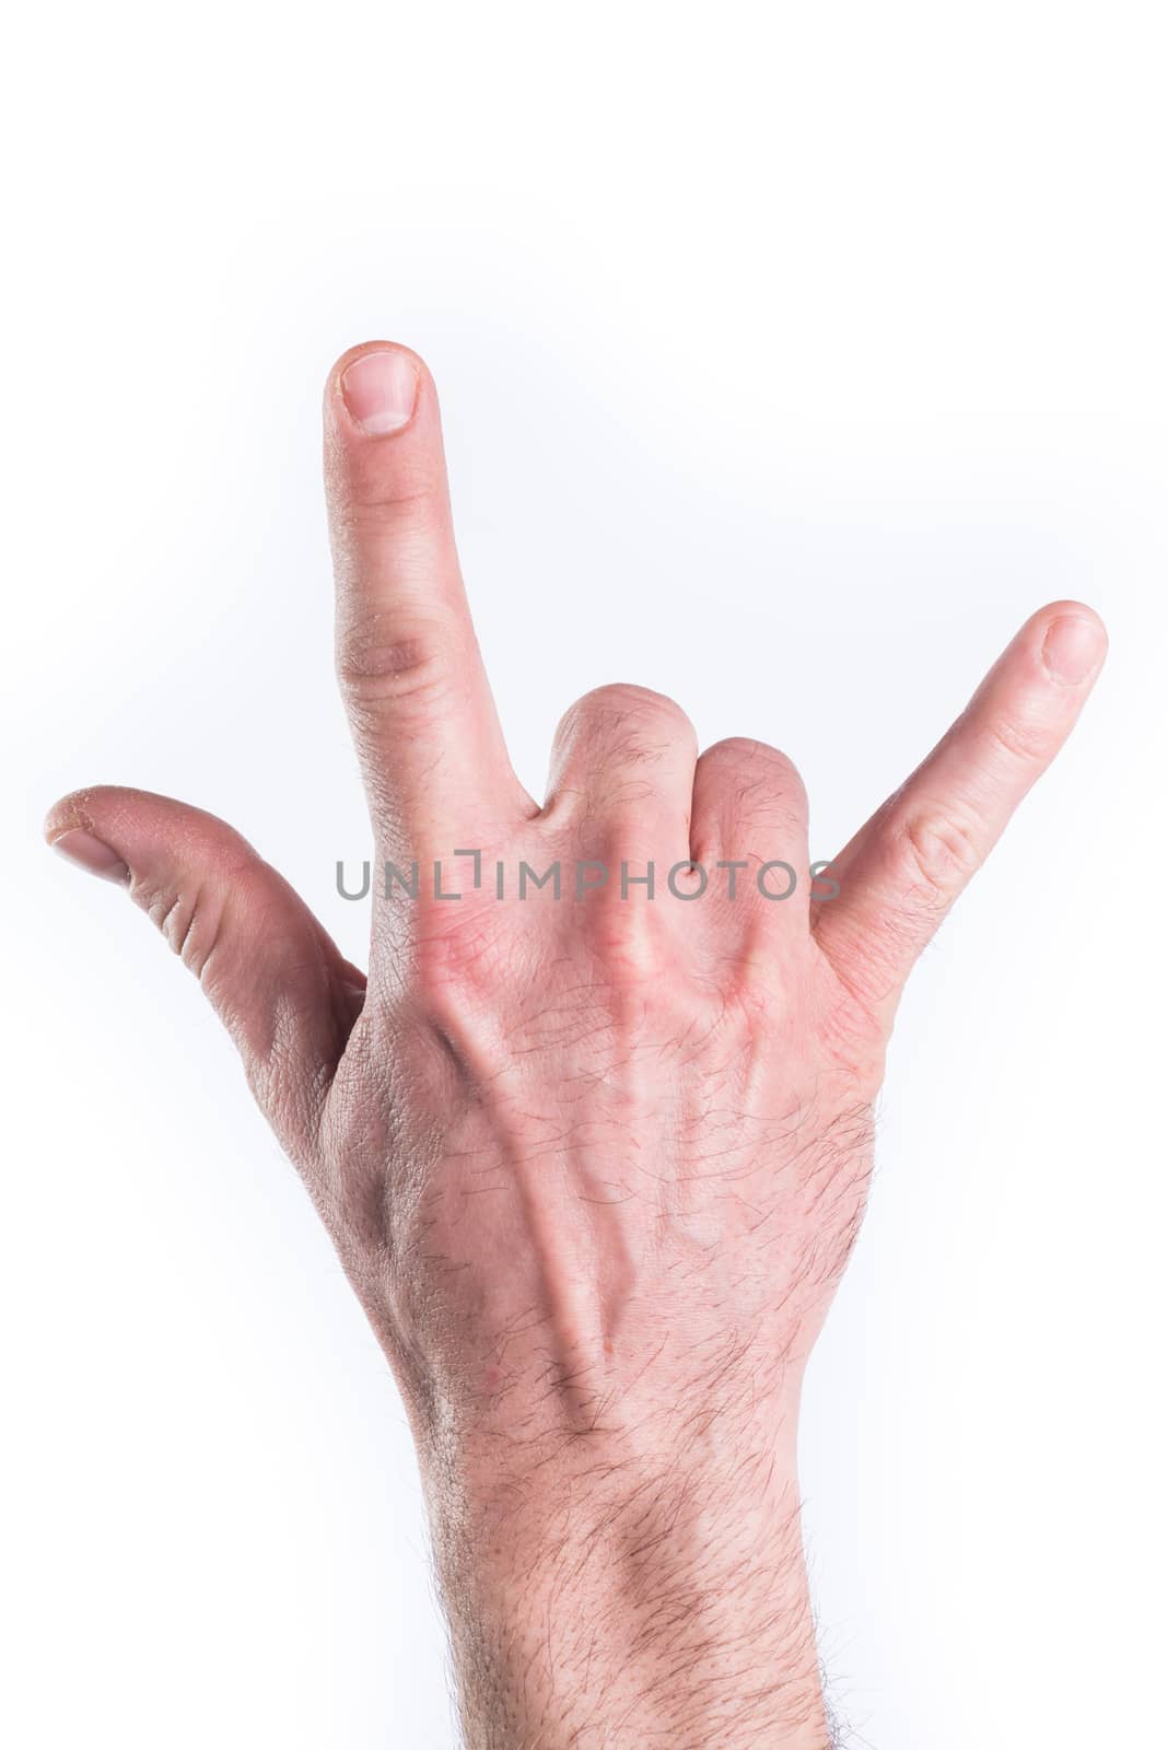
[[[367,985],[206,814],[87,789],[47,836],[199,976],[385,1346],[469,1743],[822,1746],[799,1382],[904,978],[1067,738],[1103,628],[1037,612],[813,886],[790,761],[698,758],[642,688],[575,704],[546,803],[525,793],[411,352],[339,360],[325,478],[376,840]],[[418,896],[385,898],[385,863],[407,882],[414,861]],[[519,898],[521,864],[556,863],[560,898],[530,877]]]

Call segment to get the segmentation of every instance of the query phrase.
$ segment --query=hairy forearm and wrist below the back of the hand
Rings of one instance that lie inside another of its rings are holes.
[[[430,1477],[469,1750],[825,1750],[794,1470]]]

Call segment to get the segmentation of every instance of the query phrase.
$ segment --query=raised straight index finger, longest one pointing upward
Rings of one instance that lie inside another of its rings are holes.
[[[337,676],[378,836],[427,854],[532,812],[470,625],[437,394],[407,346],[371,341],[330,371],[325,490]]]

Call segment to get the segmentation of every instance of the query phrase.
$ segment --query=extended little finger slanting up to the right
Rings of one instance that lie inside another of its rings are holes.
[[[1070,735],[1107,654],[1098,614],[1053,602],[1021,628],[948,735],[834,859],[817,936],[874,1008],[918,954]]]

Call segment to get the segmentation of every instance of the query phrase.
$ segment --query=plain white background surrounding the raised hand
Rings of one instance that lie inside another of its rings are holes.
[[[402,1412],[198,989],[38,842],[133,782],[362,957],[318,396],[434,368],[521,775],[601,681],[829,856],[1016,625],[1112,656],[916,975],[810,1382],[878,1750],[1163,1718],[1159,7],[79,4],[9,26],[0,1732],[453,1743]],[[600,1704],[600,1698],[598,1698]]]

